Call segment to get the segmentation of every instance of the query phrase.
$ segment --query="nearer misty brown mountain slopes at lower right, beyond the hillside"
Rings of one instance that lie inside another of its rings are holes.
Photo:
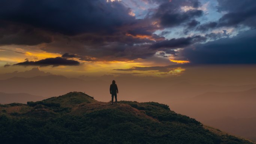
[[[238,92],[206,92],[173,101],[170,105],[175,111],[207,125],[256,141],[256,88]]]

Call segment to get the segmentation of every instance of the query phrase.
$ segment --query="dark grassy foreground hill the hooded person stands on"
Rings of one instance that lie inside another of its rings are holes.
[[[253,144],[156,102],[96,101],[70,92],[0,105],[1,144]]]

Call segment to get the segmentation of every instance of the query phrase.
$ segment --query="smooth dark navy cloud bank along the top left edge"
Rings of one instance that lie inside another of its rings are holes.
[[[135,20],[117,1],[106,0],[1,0],[0,18],[67,35],[113,33]]]

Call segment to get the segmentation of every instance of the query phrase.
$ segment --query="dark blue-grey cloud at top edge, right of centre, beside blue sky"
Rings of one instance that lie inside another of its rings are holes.
[[[182,6],[192,6],[194,8],[199,6],[198,0],[172,0],[162,3],[156,12],[153,14],[154,18],[160,20],[162,27],[175,27],[184,22],[188,22],[195,17],[203,15],[202,10],[181,10]]]

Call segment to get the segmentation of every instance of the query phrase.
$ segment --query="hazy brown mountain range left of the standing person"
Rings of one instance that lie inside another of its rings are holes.
[[[35,77],[12,77],[0,80],[0,92],[29,93],[32,95],[54,96],[69,91],[85,91],[89,84],[84,80],[64,76],[48,75]]]

